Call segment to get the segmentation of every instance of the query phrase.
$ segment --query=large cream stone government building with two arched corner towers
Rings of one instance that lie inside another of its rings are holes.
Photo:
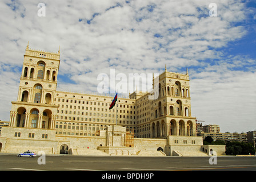
[[[191,145],[199,151],[202,146],[202,138],[196,137],[195,117],[191,116],[188,72],[165,69],[157,82],[153,78],[153,88],[155,84],[159,86],[155,100],[149,99],[152,93],[138,90],[129,94],[129,98],[118,98],[118,126],[115,126],[115,107],[109,110],[113,96],[57,90],[59,64],[60,51],[38,51],[27,45],[18,98],[11,102],[10,126],[4,127],[0,138],[2,151],[4,148],[5,152],[11,152],[19,140],[22,146],[40,148],[50,154],[58,154],[59,147],[73,148],[72,153],[76,150],[78,154],[86,146],[109,146],[106,133],[115,129],[122,131],[123,143],[119,147],[127,147],[127,142],[133,140],[133,154],[155,148],[161,142],[161,151],[167,155],[179,154],[173,152],[171,145],[183,146],[183,151]],[[128,133],[135,138],[128,140]]]

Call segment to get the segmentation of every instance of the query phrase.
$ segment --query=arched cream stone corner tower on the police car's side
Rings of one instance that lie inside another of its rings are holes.
[[[11,102],[10,126],[54,129],[58,106],[54,105],[60,51],[29,48],[27,44],[17,101]]]

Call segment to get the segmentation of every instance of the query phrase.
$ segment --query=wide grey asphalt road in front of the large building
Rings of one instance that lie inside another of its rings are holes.
[[[38,164],[45,161],[45,164]],[[209,163],[212,163],[210,164]],[[0,154],[1,171],[255,171],[255,156],[141,157],[46,155],[18,158]]]

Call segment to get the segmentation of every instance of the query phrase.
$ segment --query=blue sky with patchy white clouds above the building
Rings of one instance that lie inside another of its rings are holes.
[[[0,2],[0,119],[17,100],[27,42],[57,52],[58,90],[97,92],[97,76],[186,73],[191,112],[222,132],[256,129],[256,2],[207,0]]]

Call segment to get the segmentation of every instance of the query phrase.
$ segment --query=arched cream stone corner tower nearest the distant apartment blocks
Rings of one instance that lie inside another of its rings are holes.
[[[158,79],[157,81],[155,79]],[[153,102],[151,138],[196,136],[195,117],[191,117],[189,73],[165,72],[153,80],[158,84],[158,98]]]

